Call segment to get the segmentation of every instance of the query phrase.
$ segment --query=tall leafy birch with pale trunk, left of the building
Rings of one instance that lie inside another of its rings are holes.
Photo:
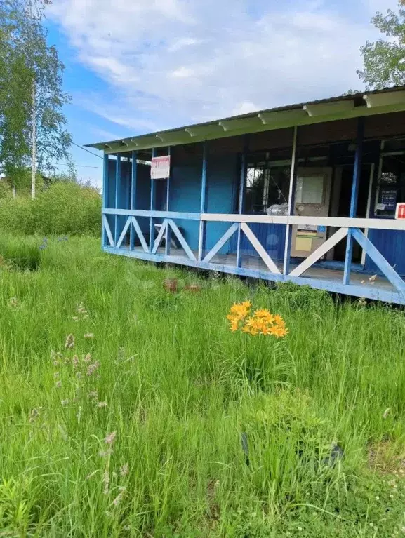
[[[67,156],[62,92],[64,66],[54,46],[46,43],[43,25],[48,0],[4,0],[0,4],[0,170],[21,177],[32,161],[46,170]],[[16,185],[18,187],[18,185]]]

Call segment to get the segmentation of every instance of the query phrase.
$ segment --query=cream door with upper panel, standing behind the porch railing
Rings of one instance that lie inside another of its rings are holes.
[[[331,199],[332,168],[298,168],[294,215],[328,217]],[[326,226],[293,226],[291,256],[308,257],[326,241]]]

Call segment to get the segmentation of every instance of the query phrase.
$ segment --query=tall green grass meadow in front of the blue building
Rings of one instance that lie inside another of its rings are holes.
[[[403,311],[92,238],[0,255],[0,536],[404,535]],[[243,301],[289,334],[231,332]]]

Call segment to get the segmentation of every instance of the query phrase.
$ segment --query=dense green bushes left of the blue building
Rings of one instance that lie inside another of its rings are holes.
[[[101,198],[76,182],[51,184],[36,199],[0,200],[0,230],[14,234],[100,234]]]

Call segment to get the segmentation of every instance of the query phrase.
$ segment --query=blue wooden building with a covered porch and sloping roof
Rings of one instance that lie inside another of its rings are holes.
[[[107,253],[405,304],[405,87],[90,147]]]

